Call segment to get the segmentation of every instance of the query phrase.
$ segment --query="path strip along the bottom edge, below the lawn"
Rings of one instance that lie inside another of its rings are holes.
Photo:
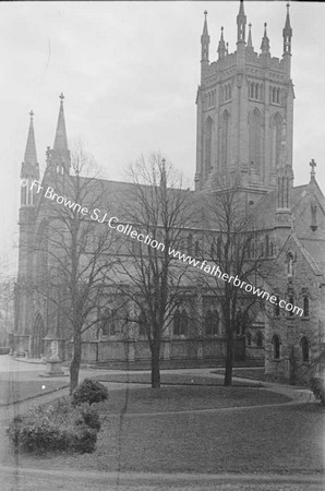
[[[1,491],[322,491],[324,477],[256,474],[146,474],[0,467]]]

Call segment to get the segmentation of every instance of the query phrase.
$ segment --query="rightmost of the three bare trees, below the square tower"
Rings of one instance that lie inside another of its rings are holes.
[[[236,337],[244,336],[246,326],[264,310],[265,300],[252,291],[254,287],[263,289],[272,268],[262,250],[256,217],[248,206],[236,179],[218,181],[217,191],[206,197],[204,255],[218,271],[213,277],[201,276],[201,280],[220,304],[226,336],[225,386],[232,383]]]

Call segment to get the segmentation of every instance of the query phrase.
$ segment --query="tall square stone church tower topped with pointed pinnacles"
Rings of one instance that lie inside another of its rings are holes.
[[[293,86],[289,4],[282,29],[282,58],[270,56],[267,25],[261,52],[254,50],[252,25],[246,33],[243,2],[237,15],[237,50],[228,51],[221,27],[218,59],[209,62],[210,38],[205,12],[201,36],[201,84],[197,89],[195,190],[217,188],[220,177],[236,176],[248,196],[274,190],[281,167],[282,128],[292,173]]]

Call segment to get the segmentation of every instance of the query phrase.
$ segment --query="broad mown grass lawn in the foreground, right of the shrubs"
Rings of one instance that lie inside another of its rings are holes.
[[[325,411],[318,404],[281,405],[288,400],[246,387],[110,391],[97,406],[104,423],[94,454],[20,454],[19,460],[62,470],[321,472]],[[13,462],[5,452],[3,464]]]

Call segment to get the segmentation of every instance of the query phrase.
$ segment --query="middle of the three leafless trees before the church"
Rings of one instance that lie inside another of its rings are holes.
[[[183,288],[186,265],[173,259],[181,249],[191,217],[191,191],[166,166],[160,155],[141,158],[130,169],[133,185],[125,196],[123,219],[141,233],[125,239],[127,254],[120,261],[121,294],[129,300],[131,321],[144,330],[152,355],[152,387],[160,386],[160,347]],[[137,236],[139,237],[139,236]]]

